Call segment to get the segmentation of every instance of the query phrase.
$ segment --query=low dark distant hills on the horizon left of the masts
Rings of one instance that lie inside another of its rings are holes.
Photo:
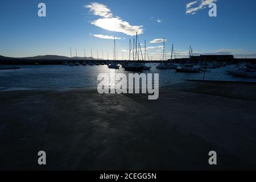
[[[71,57],[67,56],[57,56],[57,55],[45,55],[45,56],[34,56],[34,57],[5,57],[0,55],[0,59],[27,59],[27,60],[71,60]],[[73,57],[73,60],[84,60],[84,57]],[[88,60],[93,60],[92,57],[86,57]]]

